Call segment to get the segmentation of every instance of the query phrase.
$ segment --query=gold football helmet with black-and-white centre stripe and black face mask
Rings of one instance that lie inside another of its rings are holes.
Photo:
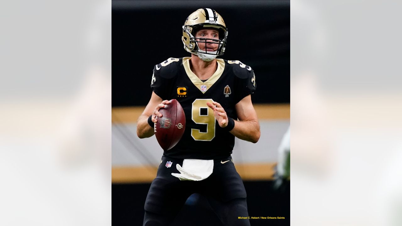
[[[218,30],[219,39],[195,38],[197,29],[214,28]],[[228,29],[221,15],[210,8],[200,8],[187,17],[183,25],[183,36],[181,37],[184,49],[195,55],[198,55],[201,60],[211,61],[218,55],[223,55],[225,52],[226,39],[228,37]],[[206,45],[207,43],[219,43],[216,51],[201,50],[199,44]]]

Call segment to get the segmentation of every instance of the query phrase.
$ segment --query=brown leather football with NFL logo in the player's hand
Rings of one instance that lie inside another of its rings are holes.
[[[157,117],[154,131],[156,140],[163,150],[173,148],[181,139],[186,128],[186,117],[183,108],[176,99],[170,100],[170,104],[159,109],[162,117]]]

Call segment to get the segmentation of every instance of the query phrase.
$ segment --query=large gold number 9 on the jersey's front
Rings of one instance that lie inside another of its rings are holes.
[[[212,99],[195,99],[191,107],[191,119],[197,124],[207,125],[207,131],[201,132],[199,129],[191,129],[191,136],[194,140],[211,141],[215,137],[215,116],[213,110],[207,106],[212,103]]]

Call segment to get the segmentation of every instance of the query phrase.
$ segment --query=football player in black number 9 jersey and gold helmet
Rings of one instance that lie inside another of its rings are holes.
[[[216,59],[224,54],[227,37],[221,15],[198,9],[183,26],[184,49],[191,57],[154,66],[153,92],[138,118],[137,136],[154,135],[156,117],[162,117],[159,109],[170,99],[183,107],[186,127],[178,144],[164,150],[146,198],[146,226],[171,223],[193,193],[208,199],[222,224],[250,225],[246,191],[231,154],[235,136],[253,143],[260,138],[250,96],[256,80],[250,66]]]

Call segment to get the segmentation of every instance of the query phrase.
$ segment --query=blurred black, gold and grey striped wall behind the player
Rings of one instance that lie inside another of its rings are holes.
[[[256,74],[252,101],[261,138],[257,144],[236,138],[232,156],[246,187],[249,216],[285,220],[252,220],[252,225],[288,225],[289,183],[275,189],[273,179],[278,147],[290,123],[289,1],[112,1],[112,222],[142,224],[162,149],[154,136],[137,138],[136,120],[152,93],[154,65],[189,56],[181,26],[198,8],[213,8],[226,22],[228,45],[220,58],[240,60]],[[189,198],[182,213],[187,218],[177,225],[197,216],[210,216],[198,224],[215,225],[216,216],[202,204],[202,197]]]

